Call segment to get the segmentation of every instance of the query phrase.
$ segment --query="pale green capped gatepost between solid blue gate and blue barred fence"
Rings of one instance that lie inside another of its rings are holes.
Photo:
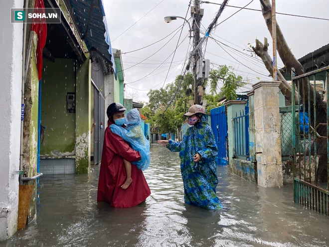
[[[228,158],[229,166],[231,167],[231,162],[233,158],[233,149],[234,149],[234,129],[232,118],[235,118],[236,112],[240,112],[245,109],[246,101],[243,100],[230,100],[225,103],[226,112],[227,112],[227,132],[228,132]]]

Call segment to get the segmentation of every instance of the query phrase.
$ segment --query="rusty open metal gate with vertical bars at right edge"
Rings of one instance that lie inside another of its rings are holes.
[[[298,112],[292,117],[294,201],[329,216],[329,91],[325,105],[314,100],[319,80],[329,88],[329,67],[292,78],[292,98],[299,96]],[[292,109],[295,105],[293,100]]]

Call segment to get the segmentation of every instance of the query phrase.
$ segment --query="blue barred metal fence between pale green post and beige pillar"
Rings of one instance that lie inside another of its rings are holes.
[[[249,106],[232,119],[234,131],[234,156],[249,158]]]

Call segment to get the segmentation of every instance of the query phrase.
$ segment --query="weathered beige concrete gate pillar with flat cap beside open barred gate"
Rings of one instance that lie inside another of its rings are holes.
[[[260,81],[255,91],[255,156],[258,184],[264,187],[283,186],[279,82]]]

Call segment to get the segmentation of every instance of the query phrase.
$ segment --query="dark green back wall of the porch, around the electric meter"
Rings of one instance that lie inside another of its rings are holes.
[[[74,59],[43,58],[41,124],[46,127],[40,154],[75,155],[75,113],[66,112],[66,94],[75,92]]]

